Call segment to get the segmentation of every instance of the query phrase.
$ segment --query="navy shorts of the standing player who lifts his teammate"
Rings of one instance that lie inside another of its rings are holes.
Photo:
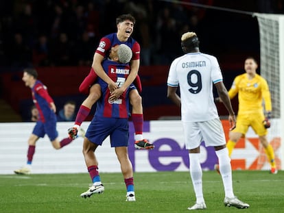
[[[128,118],[94,116],[86,131],[86,138],[96,145],[102,145],[108,136],[111,147],[128,147]]]

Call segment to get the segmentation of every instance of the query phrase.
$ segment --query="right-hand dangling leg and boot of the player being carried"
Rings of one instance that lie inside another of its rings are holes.
[[[143,138],[143,107],[142,98],[137,90],[130,90],[130,103],[132,105],[132,122],[135,131],[135,148],[154,149],[154,145]]]

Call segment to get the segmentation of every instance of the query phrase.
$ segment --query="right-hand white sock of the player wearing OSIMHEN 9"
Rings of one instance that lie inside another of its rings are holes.
[[[225,197],[235,197],[233,192],[232,182],[232,168],[230,166],[230,158],[228,156],[228,149],[220,149],[215,152],[219,160],[219,169],[222,176]]]

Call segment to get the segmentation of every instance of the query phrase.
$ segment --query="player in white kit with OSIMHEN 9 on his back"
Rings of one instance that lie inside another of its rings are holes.
[[[213,100],[213,84],[229,112],[230,128],[235,127],[228,91],[226,90],[217,59],[199,51],[199,40],[194,32],[182,34],[181,47],[185,55],[176,58],[169,68],[167,97],[181,107],[185,146],[189,150],[190,175],[196,193],[196,203],[188,210],[206,209],[202,192],[200,143],[212,146],[220,162],[220,173],[225,190],[224,205],[248,208],[250,205],[235,197],[232,169],[222,123]],[[180,97],[176,93],[180,87]],[[206,100],[206,101],[204,101]]]

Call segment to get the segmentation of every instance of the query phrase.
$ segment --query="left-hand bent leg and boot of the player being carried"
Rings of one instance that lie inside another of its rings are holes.
[[[80,131],[80,126],[82,125],[82,122],[85,121],[86,117],[91,111],[92,106],[95,104],[95,102],[97,102],[101,95],[101,86],[99,86],[99,84],[93,84],[93,86],[91,86],[90,88],[88,97],[86,97],[86,99],[83,101],[82,105],[78,110],[74,126],[68,129],[69,138],[77,138],[78,131]],[[81,130],[81,134],[84,134],[84,131]]]

